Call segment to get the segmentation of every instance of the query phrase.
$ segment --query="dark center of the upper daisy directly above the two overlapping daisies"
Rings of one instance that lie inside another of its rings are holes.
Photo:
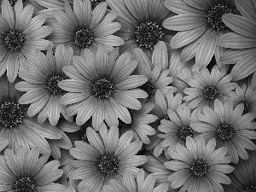
[[[92,43],[93,35],[89,29],[80,29],[74,35],[74,42],[80,48],[87,48]]]

